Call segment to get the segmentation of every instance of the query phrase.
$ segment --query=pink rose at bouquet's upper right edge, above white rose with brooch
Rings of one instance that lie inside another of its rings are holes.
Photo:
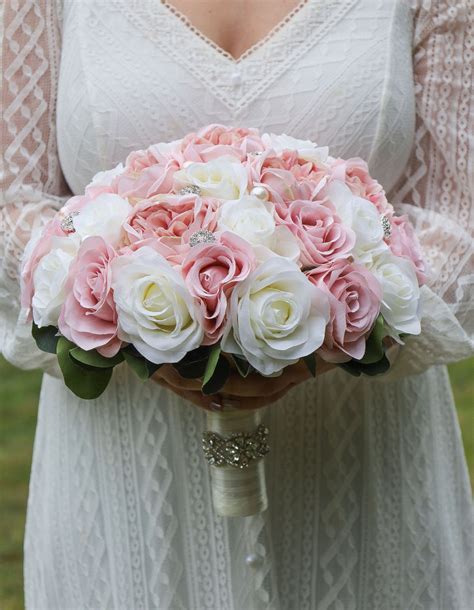
[[[331,175],[333,179],[345,182],[357,197],[371,201],[380,214],[393,212],[382,185],[369,174],[369,167],[363,159],[335,159]]]

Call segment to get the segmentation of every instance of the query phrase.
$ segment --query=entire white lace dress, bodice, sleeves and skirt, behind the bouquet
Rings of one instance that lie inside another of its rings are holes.
[[[444,366],[472,353],[472,16],[472,0],[309,0],[235,61],[159,0],[4,3],[0,339],[12,362],[50,372],[28,610],[472,608]],[[211,122],[368,159],[432,270],[423,332],[389,374],[335,371],[268,410],[270,508],[227,520],[203,412],[125,368],[100,399],[77,399],[18,307],[21,252],[53,209],[131,150]]]

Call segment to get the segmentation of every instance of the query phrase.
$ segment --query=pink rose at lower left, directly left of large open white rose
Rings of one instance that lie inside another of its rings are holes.
[[[115,256],[101,237],[88,237],[82,242],[69,270],[68,296],[59,316],[59,330],[67,339],[109,358],[122,345],[110,287],[110,262]]]

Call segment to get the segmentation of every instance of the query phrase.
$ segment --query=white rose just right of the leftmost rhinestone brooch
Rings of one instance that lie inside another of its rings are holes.
[[[131,211],[132,206],[126,199],[112,193],[102,193],[74,216],[76,234],[82,239],[99,235],[116,246],[120,242],[122,225]]]

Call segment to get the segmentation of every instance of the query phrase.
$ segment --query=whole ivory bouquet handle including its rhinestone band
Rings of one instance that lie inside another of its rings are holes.
[[[244,517],[268,507],[263,456],[268,453],[265,409],[207,413],[203,450],[210,464],[214,508]]]

